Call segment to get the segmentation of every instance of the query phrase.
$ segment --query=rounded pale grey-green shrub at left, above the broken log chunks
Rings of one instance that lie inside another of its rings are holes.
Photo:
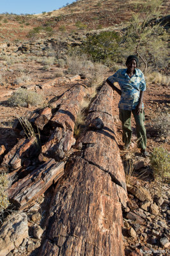
[[[8,104],[10,106],[21,106],[27,107],[28,104],[31,106],[41,105],[44,100],[40,93],[31,92],[26,89],[19,89],[17,92],[14,92],[10,99],[8,99]]]

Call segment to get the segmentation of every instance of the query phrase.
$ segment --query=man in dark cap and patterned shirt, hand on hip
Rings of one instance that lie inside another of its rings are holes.
[[[131,143],[131,113],[136,122],[136,132],[138,137],[138,148],[141,148],[141,154],[148,156],[146,152],[146,129],[144,126],[145,113],[143,106],[143,93],[146,90],[145,77],[138,66],[138,57],[130,55],[126,61],[127,68],[119,69],[113,76],[108,77],[106,82],[121,95],[119,108],[119,118],[122,122],[122,140],[125,148],[129,148]],[[114,83],[120,85],[119,90]]]

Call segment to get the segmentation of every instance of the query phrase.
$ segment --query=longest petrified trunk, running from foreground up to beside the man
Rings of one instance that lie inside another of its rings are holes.
[[[81,138],[85,150],[67,164],[59,180],[39,255],[124,255],[122,209],[126,207],[125,175],[117,145],[111,104],[113,92],[104,84],[87,116],[99,116],[102,130]]]

